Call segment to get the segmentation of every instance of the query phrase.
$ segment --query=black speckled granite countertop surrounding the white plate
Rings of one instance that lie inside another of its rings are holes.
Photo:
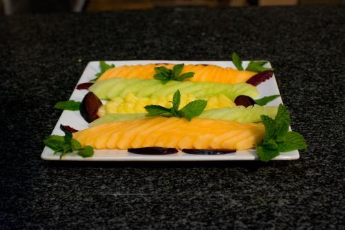
[[[0,229],[344,229],[345,7],[0,18]],[[286,162],[45,162],[88,61],[268,59],[308,150]]]

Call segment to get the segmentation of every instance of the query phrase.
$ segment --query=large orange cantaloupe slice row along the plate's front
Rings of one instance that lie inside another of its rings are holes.
[[[177,117],[150,117],[108,122],[73,133],[82,146],[96,149],[142,147],[248,149],[264,138],[262,124]]]

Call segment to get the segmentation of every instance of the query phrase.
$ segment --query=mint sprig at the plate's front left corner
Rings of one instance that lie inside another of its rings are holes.
[[[81,157],[91,157],[93,155],[92,146],[81,148],[81,144],[72,137],[72,133],[66,131],[62,126],[60,128],[65,133],[64,136],[50,135],[43,140],[44,144],[54,151],[54,154],[61,153],[60,160],[67,153],[77,150],[79,150],[77,154]]]

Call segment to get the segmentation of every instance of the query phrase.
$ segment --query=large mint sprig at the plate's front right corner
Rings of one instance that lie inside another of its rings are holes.
[[[290,115],[285,106],[279,105],[275,119],[266,115],[261,117],[265,126],[265,137],[256,148],[260,160],[268,162],[277,157],[279,152],[307,148],[306,140],[301,134],[288,131]]]

